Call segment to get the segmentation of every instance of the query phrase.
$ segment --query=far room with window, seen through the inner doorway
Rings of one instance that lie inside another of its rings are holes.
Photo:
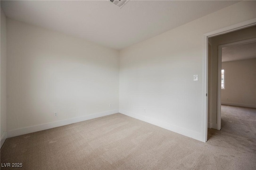
[[[256,38],[222,49],[221,119],[256,127]],[[245,126],[243,126],[245,125]]]

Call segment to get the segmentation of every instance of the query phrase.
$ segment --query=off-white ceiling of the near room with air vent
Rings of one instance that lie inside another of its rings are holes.
[[[2,1],[7,17],[122,49],[239,1]]]

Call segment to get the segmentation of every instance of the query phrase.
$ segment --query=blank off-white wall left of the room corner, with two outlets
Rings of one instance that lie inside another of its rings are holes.
[[[8,18],[7,53],[8,137],[118,112],[118,51]]]

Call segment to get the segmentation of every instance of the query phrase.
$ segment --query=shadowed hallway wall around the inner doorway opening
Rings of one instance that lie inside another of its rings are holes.
[[[210,117],[211,127],[217,129],[217,77],[218,77],[218,45],[233,43],[246,39],[256,38],[256,26],[240,29],[223,35],[212,37],[209,40],[212,44],[211,67],[210,67]]]

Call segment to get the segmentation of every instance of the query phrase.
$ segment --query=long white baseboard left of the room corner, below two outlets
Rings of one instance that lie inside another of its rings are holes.
[[[42,131],[42,130],[46,130],[46,129],[51,129],[54,127],[59,127],[59,126],[64,126],[64,125],[69,125],[72,123],[77,123],[80,121],[86,121],[86,120],[90,120],[90,119],[94,119],[94,118],[98,118],[98,117],[102,117],[102,116],[106,116],[106,115],[112,115],[118,113],[118,109],[115,110],[110,110],[110,111],[104,111],[101,113],[94,113],[91,115],[84,115],[81,117],[74,117],[71,119],[66,119],[66,120],[60,120],[60,121],[55,121],[55,122],[51,122],[51,123],[45,123],[45,124],[41,124],[41,125],[35,125],[35,126],[30,126],[30,127],[25,127],[25,128],[21,128],[21,129],[15,129],[12,131],[8,131],[8,135],[7,137],[15,137],[15,136],[19,136],[19,135],[24,135],[24,134],[28,134],[28,133],[33,133],[33,132],[37,132],[37,131]],[[2,145],[2,138],[1,138],[1,145]]]

